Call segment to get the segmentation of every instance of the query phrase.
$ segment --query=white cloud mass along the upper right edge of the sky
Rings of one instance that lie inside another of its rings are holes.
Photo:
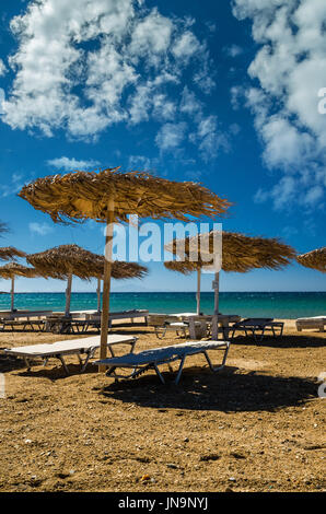
[[[276,208],[291,201],[323,206],[326,188],[326,116],[318,92],[326,86],[325,0],[234,0],[233,12],[253,22],[259,45],[249,77],[259,87],[234,86],[255,116],[264,161],[286,175],[256,201],[272,198]]]

